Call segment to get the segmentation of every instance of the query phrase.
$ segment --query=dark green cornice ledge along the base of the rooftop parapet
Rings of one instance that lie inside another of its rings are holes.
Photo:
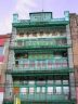
[[[12,25],[14,27],[34,27],[34,26],[53,26],[53,25],[67,25],[69,24],[69,21],[66,21],[65,18],[52,18],[50,21],[42,21],[42,22],[32,22],[30,20],[18,20],[17,23],[13,23]]]

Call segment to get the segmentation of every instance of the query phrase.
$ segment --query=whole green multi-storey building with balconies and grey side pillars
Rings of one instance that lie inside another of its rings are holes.
[[[13,15],[4,104],[76,104],[69,12]]]

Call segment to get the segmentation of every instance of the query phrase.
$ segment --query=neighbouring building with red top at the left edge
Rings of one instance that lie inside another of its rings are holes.
[[[0,35],[0,104],[3,102],[10,35]]]

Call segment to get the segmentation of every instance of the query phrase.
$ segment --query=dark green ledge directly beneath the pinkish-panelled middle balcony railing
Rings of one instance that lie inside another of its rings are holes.
[[[52,70],[6,70],[6,74],[12,76],[51,76],[51,75],[67,75],[74,73],[73,68],[52,69]]]

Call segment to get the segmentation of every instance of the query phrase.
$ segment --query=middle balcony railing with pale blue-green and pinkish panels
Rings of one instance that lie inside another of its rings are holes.
[[[25,70],[63,70],[68,69],[67,58],[53,58],[44,61],[35,60],[16,60],[16,65],[13,65],[12,72],[25,72]]]

